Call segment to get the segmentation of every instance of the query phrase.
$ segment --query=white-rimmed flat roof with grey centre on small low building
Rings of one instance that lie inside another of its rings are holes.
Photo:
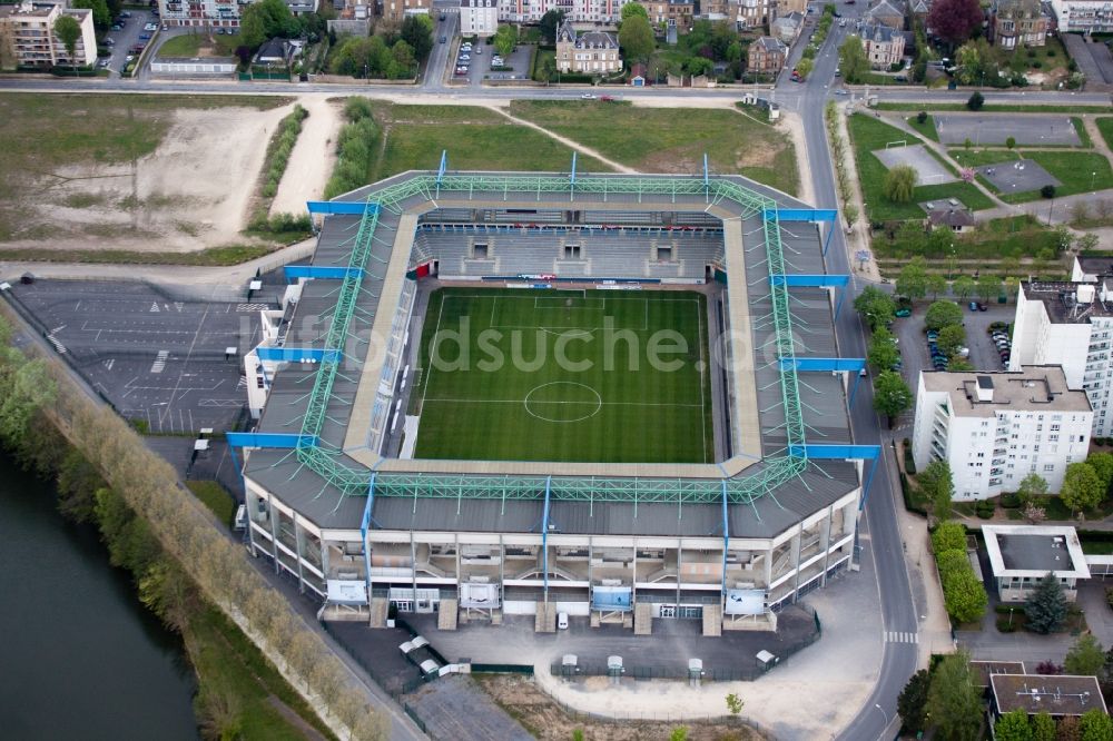
[[[986,551],[994,576],[1089,579],[1090,569],[1074,527],[985,525]]]

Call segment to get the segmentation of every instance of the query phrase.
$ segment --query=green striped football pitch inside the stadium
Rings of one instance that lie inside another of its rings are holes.
[[[692,292],[437,290],[414,455],[710,463],[706,316]]]

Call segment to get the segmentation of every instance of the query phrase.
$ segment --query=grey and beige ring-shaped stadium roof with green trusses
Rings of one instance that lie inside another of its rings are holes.
[[[301,432],[319,442],[296,451],[253,451],[245,467],[253,481],[319,526],[358,527],[364,496],[374,491],[372,516],[378,527],[522,532],[538,527],[539,507],[551,493],[550,516],[564,532],[697,535],[721,523],[726,495],[731,535],[761,536],[857,486],[851,464],[823,462],[820,467],[787,455],[790,444],[802,446],[805,435],[809,443],[850,443],[840,379],[829,373],[798,377],[777,360],[837,356],[827,289],[777,287],[769,278],[771,273],[825,271],[815,226],[778,225],[774,214],[806,208],[799,201],[738,177],[590,176],[572,184],[567,174],[495,172],[406,172],[335,200],[371,207],[362,216],[327,216],[313,264],[361,271],[343,281],[307,281],[286,346],[341,348],[343,362],[332,367],[289,364],[273,379],[258,425],[258,432]],[[732,274],[729,318],[747,327],[749,339],[732,359],[736,373],[754,379],[752,385],[748,379],[737,385],[732,416],[754,416],[758,424],[736,419],[735,456],[721,466],[672,466],[668,475],[652,478],[642,477],[643,467],[611,464],[607,468],[614,473],[608,480],[577,478],[574,464],[562,470],[545,463],[515,464],[514,471],[529,465],[533,475],[511,477],[508,470],[505,482],[490,475],[453,478],[450,471],[467,467],[452,462],[440,473],[398,472],[406,462],[386,462],[366,445],[372,409],[364,395],[370,388],[374,396],[382,373],[381,358],[380,366],[367,362],[375,353],[366,338],[373,325],[378,329],[400,314],[398,266],[404,273],[417,218],[453,206],[568,205],[599,211],[697,211],[722,220]],[[638,473],[623,477],[623,471]],[[466,507],[460,506],[463,498]],[[498,517],[491,516],[492,507]]]

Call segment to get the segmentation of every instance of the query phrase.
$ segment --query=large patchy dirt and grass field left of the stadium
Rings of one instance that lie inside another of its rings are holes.
[[[240,230],[286,101],[41,98],[53,108],[0,98],[12,120],[47,119],[38,139],[0,154],[13,174],[0,206],[6,248],[186,253],[250,241]]]

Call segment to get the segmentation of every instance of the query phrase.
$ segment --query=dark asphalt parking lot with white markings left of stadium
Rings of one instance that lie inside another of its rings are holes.
[[[10,294],[59,356],[121,416],[152,433],[220,432],[236,423],[247,401],[243,353],[259,333],[255,313],[272,308],[176,300],[134,283],[37,279]]]

